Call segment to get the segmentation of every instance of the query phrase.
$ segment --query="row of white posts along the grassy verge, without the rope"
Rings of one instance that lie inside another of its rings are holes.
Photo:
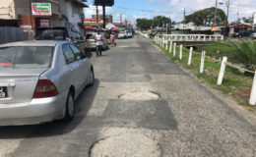
[[[160,46],[163,47],[163,48],[164,48],[164,44],[165,44],[165,50],[168,50],[168,52],[170,54],[173,51],[173,57],[176,56],[176,42],[172,43],[172,41],[164,41],[163,39],[160,39],[160,38],[157,39],[156,42],[158,44],[160,44]],[[167,49],[168,48],[168,43],[169,43],[169,49]],[[180,48],[180,50],[179,50],[179,60],[182,60],[183,45],[180,45],[179,48]],[[193,47],[190,47],[189,57],[188,57],[188,66],[191,65],[192,54],[193,54]],[[204,73],[205,57],[206,57],[206,51],[202,51],[201,64],[200,64],[200,70],[199,70],[200,74]],[[222,61],[221,70],[220,70],[220,73],[219,73],[217,85],[222,85],[222,83],[223,83],[224,70],[225,70],[226,63],[227,63],[227,57],[224,57],[223,61]],[[256,72],[255,72],[255,74],[256,74]],[[254,76],[254,80],[253,80],[253,85],[252,85],[249,104],[250,105],[256,105],[256,75]]]

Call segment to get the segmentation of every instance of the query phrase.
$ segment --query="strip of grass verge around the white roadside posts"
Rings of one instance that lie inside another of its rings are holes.
[[[158,44],[154,43],[159,46]],[[212,47],[218,48],[218,44],[213,44]],[[159,46],[160,47],[160,46]],[[173,47],[172,47],[173,48]],[[211,49],[211,46],[208,47]],[[173,56],[173,49],[171,54],[168,50],[165,50],[165,47],[160,49],[165,53],[165,56],[169,58],[174,63],[178,64],[182,68],[188,70],[190,73],[194,74],[202,82],[209,84],[212,88],[222,91],[224,94],[233,97],[234,100],[238,102],[241,106],[246,108],[249,111],[256,111],[254,106],[248,104],[250,97],[250,89],[252,86],[253,78],[245,77],[241,72],[236,69],[226,67],[224,73],[224,80],[222,85],[217,85],[217,80],[219,72],[221,69],[221,63],[212,62],[208,58],[205,59],[205,69],[204,74],[199,73],[201,55],[193,53],[192,55],[192,64],[188,66],[188,55],[189,50],[183,49],[182,60],[179,60],[179,47],[176,47],[176,56]],[[168,47],[169,49],[169,47]],[[227,52],[231,52],[231,48],[226,48],[225,46],[222,49]],[[214,52],[214,50],[212,50]]]

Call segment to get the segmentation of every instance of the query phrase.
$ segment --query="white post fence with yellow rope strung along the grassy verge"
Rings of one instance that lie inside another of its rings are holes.
[[[166,40],[164,41],[163,38],[158,38],[158,37],[155,37],[155,42],[157,44],[159,44],[160,47],[164,48],[165,50],[167,50],[167,48],[169,48],[168,53],[171,53],[173,51],[173,56],[176,56],[176,42],[173,42],[173,41],[169,41],[168,42]],[[168,43],[169,43],[169,46],[168,46]],[[165,47],[164,47],[164,44],[166,44]],[[182,45],[180,45],[179,48],[180,48],[179,60],[182,60],[182,54],[183,54],[182,51],[185,48],[183,48]],[[187,50],[187,49],[185,49],[185,50]],[[237,69],[237,70],[242,70],[244,72],[248,72],[248,73],[251,73],[251,74],[256,74],[256,72],[249,71],[249,70],[246,70],[246,69],[234,66],[234,65],[232,65],[230,63],[227,63],[227,57],[224,57],[223,60],[218,60],[218,59],[215,59],[215,58],[211,58],[210,56],[206,56],[206,52],[205,51],[203,51],[202,53],[198,53],[198,52],[193,51],[193,47],[190,47],[190,50],[189,50],[188,66],[191,65],[192,54],[193,53],[201,55],[200,74],[204,73],[205,58],[208,58],[209,61],[212,61],[212,62],[221,62],[222,63],[221,64],[220,73],[219,73],[219,77],[218,77],[218,81],[217,81],[217,85],[222,85],[222,83],[223,83],[224,72],[225,72],[225,67],[226,66],[234,68],[234,69]],[[254,79],[253,79],[253,84],[252,84],[249,104],[253,105],[253,106],[256,105],[256,75],[254,75]]]

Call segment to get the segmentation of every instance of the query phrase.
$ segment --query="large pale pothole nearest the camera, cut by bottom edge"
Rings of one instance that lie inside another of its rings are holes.
[[[123,133],[98,141],[90,152],[91,157],[160,157],[160,144],[144,134]]]

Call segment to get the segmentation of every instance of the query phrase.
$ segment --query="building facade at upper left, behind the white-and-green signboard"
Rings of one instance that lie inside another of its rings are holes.
[[[50,3],[51,15],[32,16],[31,3]],[[84,12],[87,0],[2,0],[0,19],[18,20],[24,30],[38,27],[70,26],[83,31]]]

